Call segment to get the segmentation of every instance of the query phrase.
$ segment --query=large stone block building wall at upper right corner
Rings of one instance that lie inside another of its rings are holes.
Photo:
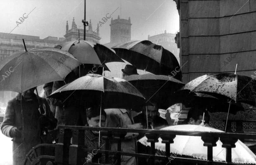
[[[256,71],[255,0],[175,0],[183,82],[206,73]],[[185,64],[186,63],[186,64]],[[186,111],[183,111],[186,117]]]

